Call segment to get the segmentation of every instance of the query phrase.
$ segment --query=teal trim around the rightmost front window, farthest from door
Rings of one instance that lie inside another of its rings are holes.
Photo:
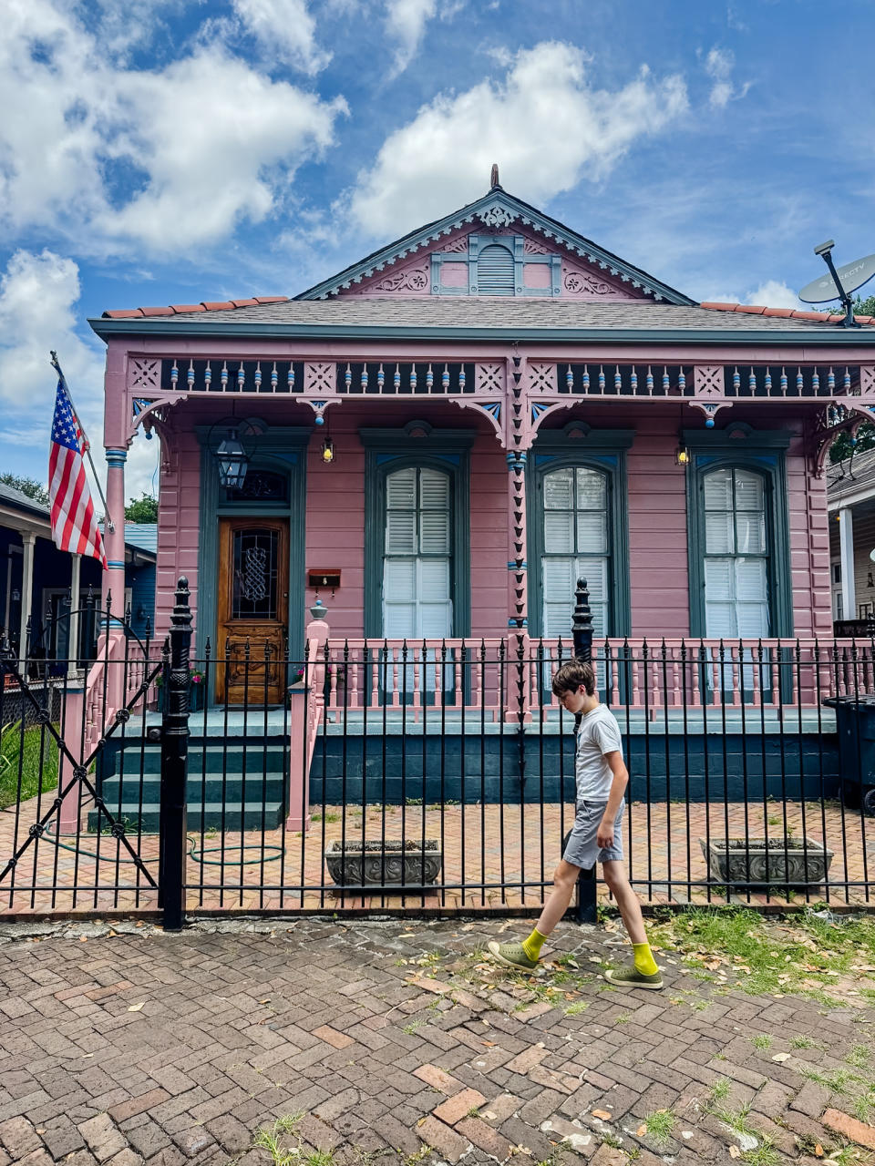
[[[687,466],[687,561],[690,570],[690,634],[704,637],[705,621],[705,486],[710,470],[743,469],[761,473],[765,482],[765,525],[770,553],[770,635],[793,634],[793,596],[790,574],[790,518],[786,491],[786,429],[756,430],[742,422],[726,429],[685,429],[682,441],[691,456]]]

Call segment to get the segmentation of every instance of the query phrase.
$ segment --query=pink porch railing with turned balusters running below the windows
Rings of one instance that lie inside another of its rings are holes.
[[[406,709],[480,712],[497,721],[522,676],[526,715],[558,710],[552,673],[570,637],[490,639],[329,638],[327,705],[342,712]],[[656,717],[664,709],[816,708],[826,697],[875,691],[870,640],[603,639],[593,644],[603,698]],[[519,701],[517,701],[517,704]]]

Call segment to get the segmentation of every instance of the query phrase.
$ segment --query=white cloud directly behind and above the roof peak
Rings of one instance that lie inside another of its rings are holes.
[[[401,231],[503,184],[534,203],[603,177],[636,139],[687,108],[679,76],[646,68],[623,89],[594,89],[583,52],[562,42],[522,50],[502,82],[440,94],[383,143],[349,195],[354,219],[372,234]]]

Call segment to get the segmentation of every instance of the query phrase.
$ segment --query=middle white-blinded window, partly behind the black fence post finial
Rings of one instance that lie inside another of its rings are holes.
[[[582,576],[589,588],[593,630],[610,627],[608,478],[598,470],[568,466],[544,476],[541,554],[542,634],[570,633],[574,590]]]

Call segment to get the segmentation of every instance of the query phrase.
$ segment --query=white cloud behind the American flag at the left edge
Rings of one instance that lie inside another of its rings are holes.
[[[48,480],[49,430],[57,378],[49,364],[57,350],[70,394],[91,441],[102,483],[104,350],[76,332],[79,271],[68,258],[43,250],[16,251],[0,276],[0,442],[4,469]],[[14,419],[14,420],[13,420]],[[152,489],[159,442],[134,441],[127,494]],[[99,503],[97,503],[99,505]]]

